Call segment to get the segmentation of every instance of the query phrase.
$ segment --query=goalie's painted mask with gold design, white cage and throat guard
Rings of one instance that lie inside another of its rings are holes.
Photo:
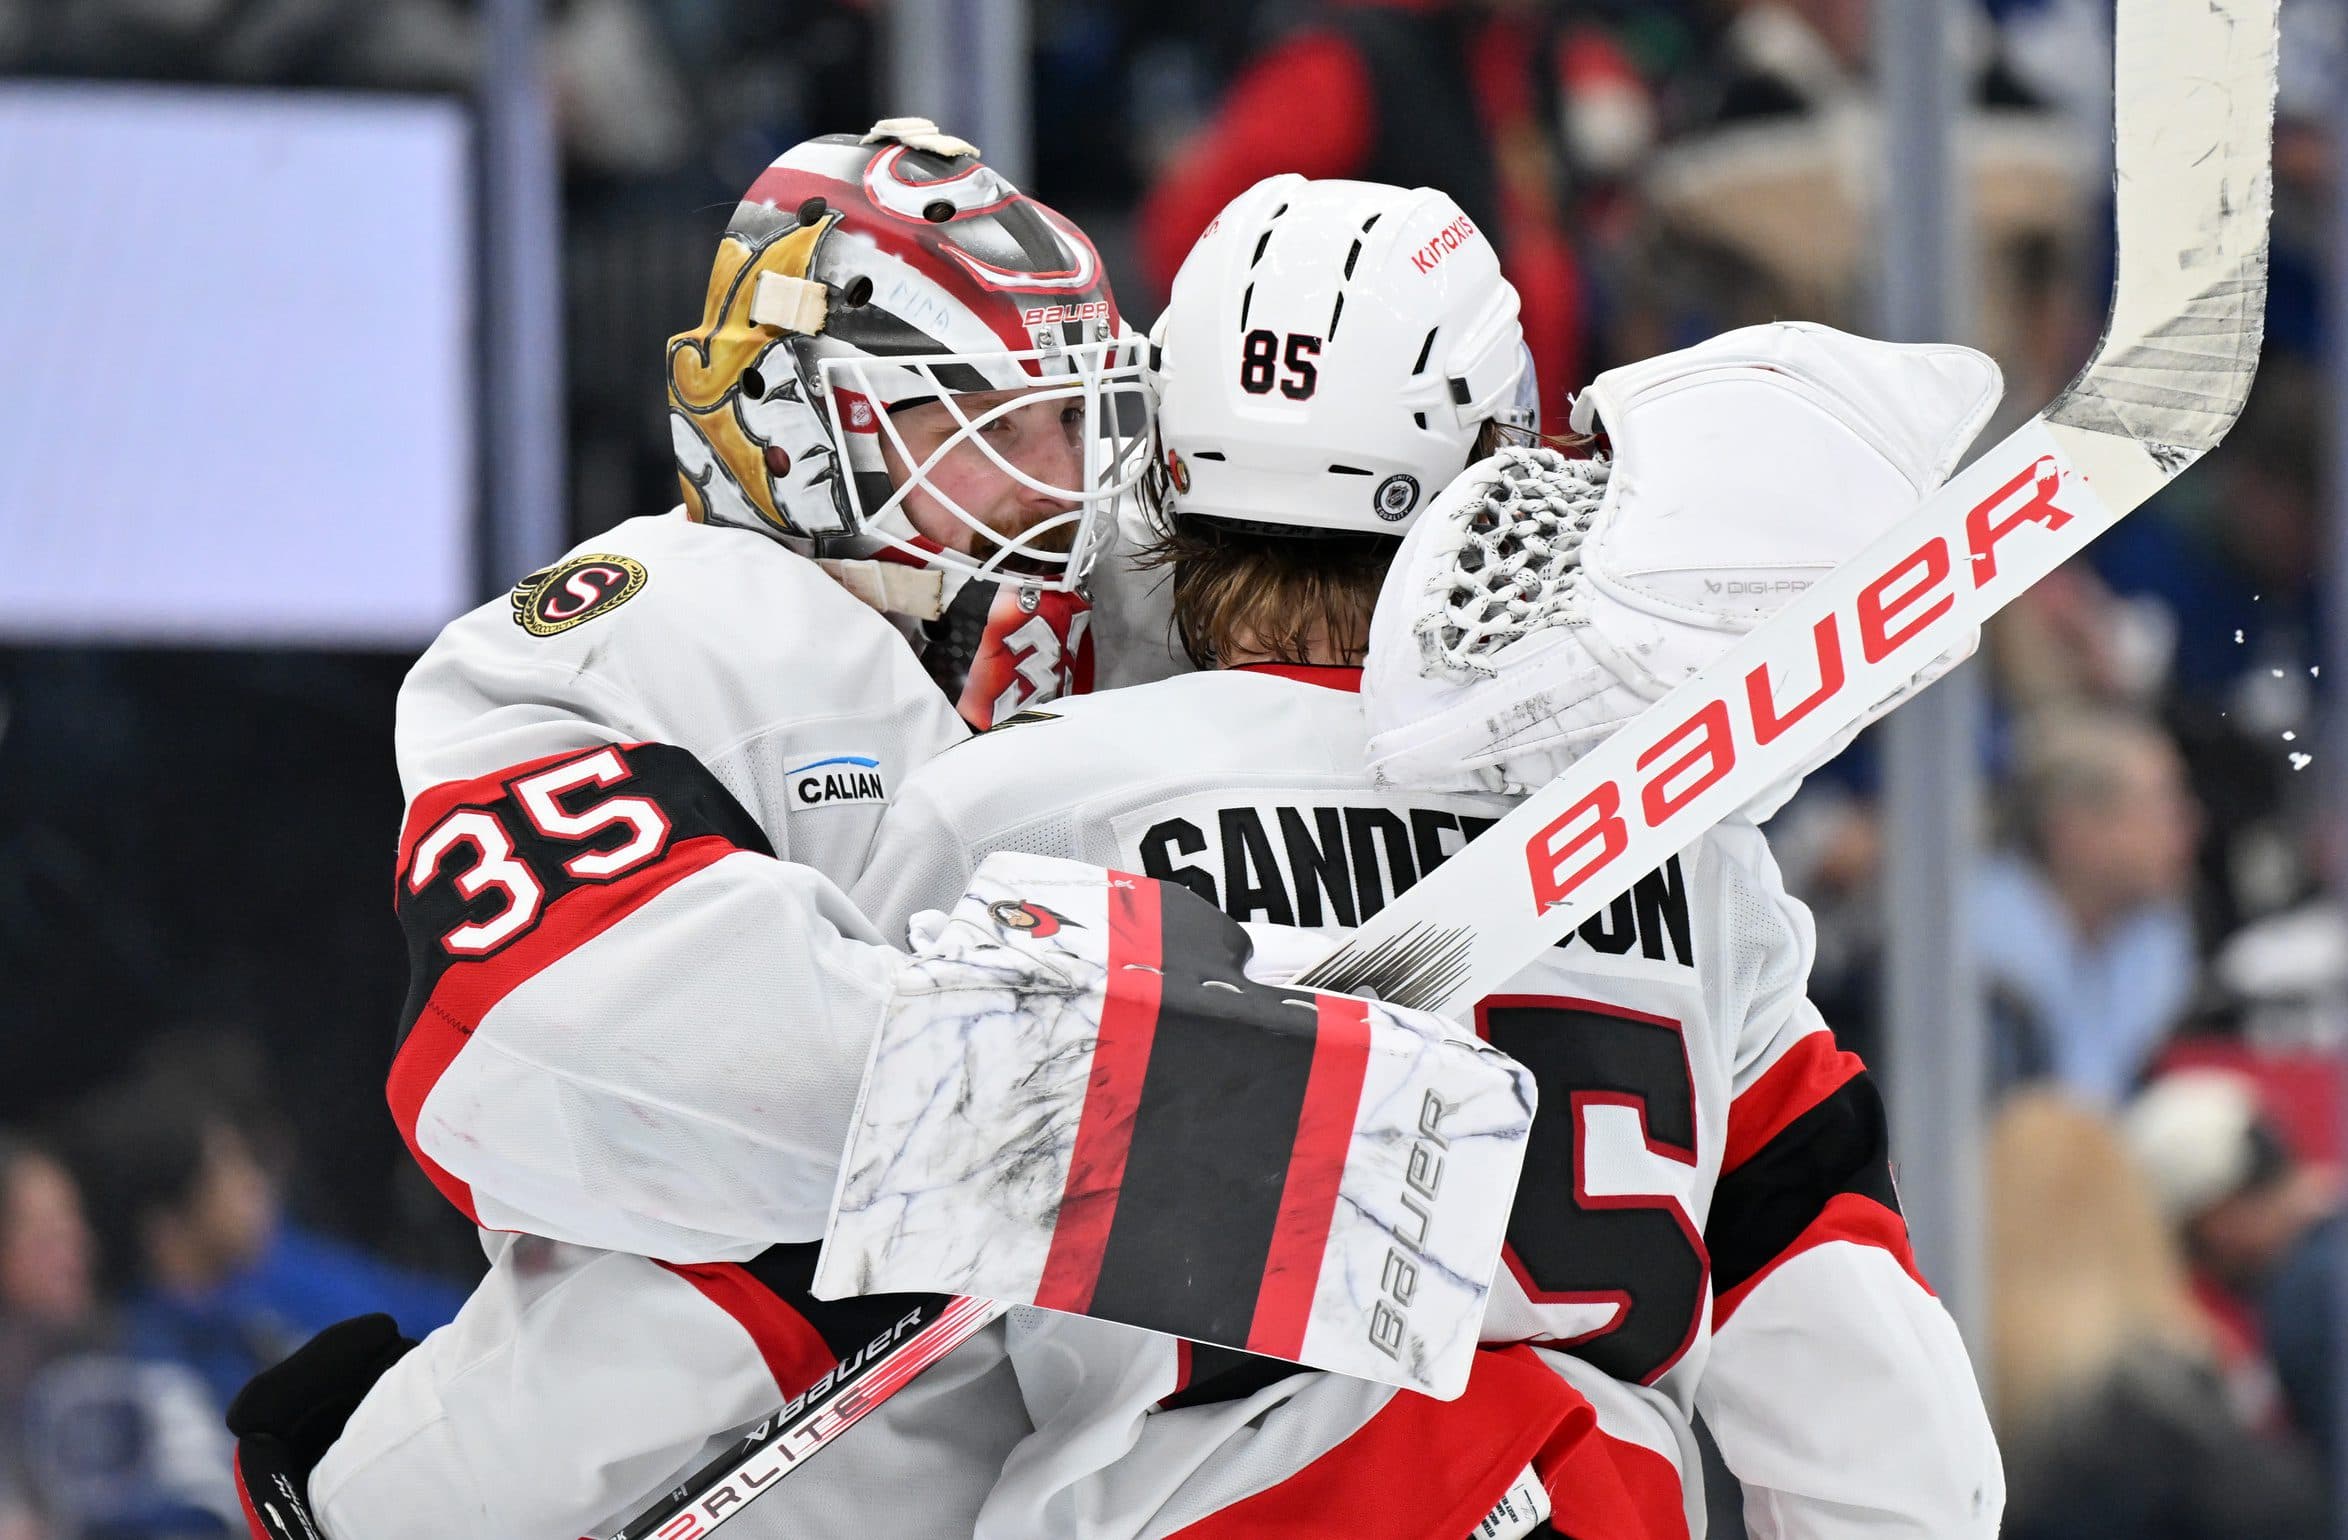
[[[1148,467],[1092,242],[918,117],[751,183],[669,340],[686,512],[791,540],[986,728],[1092,683],[1085,585]]]

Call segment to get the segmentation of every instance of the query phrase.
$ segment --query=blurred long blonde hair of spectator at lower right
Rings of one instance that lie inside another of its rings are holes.
[[[2184,1261],[2118,1129],[2054,1092],[1989,1129],[1989,1350],[2008,1432],[2059,1418],[2141,1345],[2207,1355]]]

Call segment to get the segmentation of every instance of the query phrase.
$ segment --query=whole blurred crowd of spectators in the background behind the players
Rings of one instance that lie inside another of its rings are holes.
[[[542,9],[587,535],[674,502],[660,347],[740,190],[805,134],[920,103],[876,87],[880,5]],[[2005,369],[2003,427],[2104,315],[2111,7],[1949,16],[1972,272],[1949,303]],[[460,0],[0,0],[0,75],[465,92],[479,26]],[[1726,326],[1871,329],[1871,26],[1869,0],[1035,0],[1028,181],[1143,322],[1259,176],[1439,183],[1524,291],[1557,430],[1599,369]],[[2249,411],[1972,664],[1996,1061],[1977,1350],[2019,1540],[2327,1533],[2348,916],[2308,770],[2336,700],[2320,350],[2348,12],[2287,0],[2285,33]],[[171,1505],[218,1512],[197,1472],[223,1470],[216,1409],[244,1373],[355,1308],[413,1331],[453,1303],[373,1261],[467,1265],[373,1101],[399,662],[0,653],[0,779],[26,789],[0,812],[0,960],[19,1012],[49,1002],[0,1033],[0,1120],[21,1124],[0,1139],[0,1540],[207,1533]],[[1876,791],[1862,739],[1775,845],[1817,911],[1820,1005],[1883,1061],[1900,831]],[[148,1031],[190,1014],[239,1028]],[[85,1474],[134,1458],[153,1512],[96,1502]]]

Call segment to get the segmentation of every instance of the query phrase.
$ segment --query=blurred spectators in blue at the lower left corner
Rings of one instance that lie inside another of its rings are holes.
[[[310,1333],[456,1315],[465,1282],[286,1211],[303,1155],[258,1040],[148,1038],[0,1132],[0,1540],[242,1535],[223,1413]]]

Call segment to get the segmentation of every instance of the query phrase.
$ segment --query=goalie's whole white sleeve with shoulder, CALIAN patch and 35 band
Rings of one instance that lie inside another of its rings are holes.
[[[838,883],[960,730],[796,556],[660,535],[639,599],[554,636],[477,610],[402,690],[387,1096],[474,1223],[740,1261],[822,1235],[899,965]],[[824,627],[822,678],[777,608]]]

